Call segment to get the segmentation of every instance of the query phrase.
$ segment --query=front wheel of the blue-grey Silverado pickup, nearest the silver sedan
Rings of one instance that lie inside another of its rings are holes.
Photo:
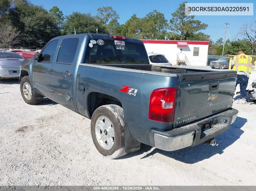
[[[24,76],[21,79],[20,92],[23,100],[30,105],[36,105],[42,102],[42,99],[37,99],[37,97],[41,97],[41,95],[33,91],[29,76]]]

